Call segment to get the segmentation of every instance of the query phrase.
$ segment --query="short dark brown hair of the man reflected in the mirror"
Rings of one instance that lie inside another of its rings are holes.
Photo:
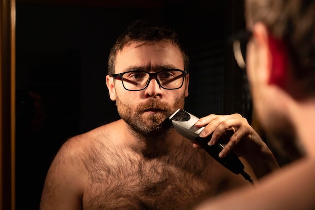
[[[116,43],[112,47],[108,59],[108,74],[115,72],[115,60],[117,52],[121,51],[125,46],[133,42],[141,41],[170,41],[179,47],[184,58],[184,68],[188,70],[188,57],[179,41],[175,30],[161,23],[154,23],[146,20],[133,21],[127,29],[118,37]]]

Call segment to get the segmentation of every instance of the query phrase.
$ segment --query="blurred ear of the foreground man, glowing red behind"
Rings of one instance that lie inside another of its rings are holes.
[[[259,58],[263,64],[266,82],[284,87],[287,81],[287,56],[283,40],[276,39],[263,23],[255,23],[253,36],[259,45]]]

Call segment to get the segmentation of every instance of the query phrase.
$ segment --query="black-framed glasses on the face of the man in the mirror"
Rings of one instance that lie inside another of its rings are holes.
[[[120,78],[123,87],[128,91],[140,91],[145,89],[152,77],[156,78],[157,83],[163,89],[174,90],[182,87],[187,71],[179,69],[166,69],[160,72],[149,73],[145,71],[128,71],[112,74],[115,79]]]

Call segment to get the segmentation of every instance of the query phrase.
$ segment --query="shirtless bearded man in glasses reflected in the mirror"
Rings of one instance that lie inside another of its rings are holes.
[[[187,66],[174,31],[144,21],[131,24],[110,52],[106,76],[121,119],[63,144],[48,171],[40,209],[184,210],[208,196],[250,185],[204,150],[194,149],[169,122],[188,96]],[[203,137],[232,131],[227,147],[252,147],[245,159],[270,158],[263,170],[254,168],[255,175],[242,159],[253,178],[277,168],[270,150],[239,114],[209,115],[199,120],[198,126],[205,125]]]

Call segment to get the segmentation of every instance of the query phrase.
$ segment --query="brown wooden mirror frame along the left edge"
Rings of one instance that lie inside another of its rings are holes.
[[[0,0],[0,209],[15,209],[15,0]]]

